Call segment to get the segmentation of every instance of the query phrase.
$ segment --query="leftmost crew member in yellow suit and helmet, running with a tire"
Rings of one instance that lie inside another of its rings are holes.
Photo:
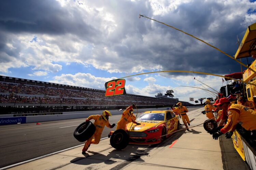
[[[85,151],[88,150],[88,148],[90,147],[90,144],[98,144],[100,142],[101,133],[105,125],[108,128],[114,128],[115,123],[113,123],[112,125],[109,123],[109,116],[112,116],[109,111],[103,111],[102,115],[91,115],[85,120],[85,121],[89,121],[91,119],[94,119],[95,120],[94,125],[96,127],[96,130],[94,135],[90,139],[85,141],[82,154],[85,154]]]

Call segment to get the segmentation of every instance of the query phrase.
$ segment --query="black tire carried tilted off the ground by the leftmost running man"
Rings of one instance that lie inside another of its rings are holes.
[[[96,128],[90,121],[83,122],[74,131],[74,137],[80,142],[84,142],[93,136]]]

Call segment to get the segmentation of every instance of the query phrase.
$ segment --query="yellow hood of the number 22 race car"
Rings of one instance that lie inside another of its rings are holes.
[[[148,130],[150,128],[153,128],[154,126],[157,127],[159,124],[165,122],[165,121],[152,121],[152,120],[142,120],[137,121],[138,123],[141,123],[140,125],[137,125],[135,123],[128,123],[126,128],[130,132],[143,132],[145,130]]]

